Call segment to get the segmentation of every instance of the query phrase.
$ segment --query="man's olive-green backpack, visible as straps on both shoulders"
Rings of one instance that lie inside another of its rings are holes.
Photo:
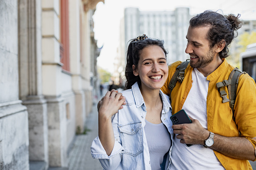
[[[168,89],[170,90],[170,94],[172,94],[172,91],[173,91],[174,87],[176,86],[177,81],[180,81],[180,83],[183,82],[184,75],[185,75],[185,70],[188,67],[188,64],[189,64],[189,60],[186,60],[186,61],[182,62],[176,68],[176,71],[175,71],[172,79],[170,79],[170,82],[169,82],[169,85],[168,85]],[[218,91],[220,92],[220,96],[223,98],[222,103],[229,102],[229,107],[232,110],[232,113],[233,113],[232,118],[233,118],[234,122],[235,122],[234,104],[235,104],[235,98],[236,98],[236,90],[237,90],[239,77],[242,74],[246,74],[246,72],[241,71],[236,67],[230,73],[230,75],[228,77],[228,80],[223,80],[222,82],[216,83]],[[227,93],[224,90],[225,86],[227,86],[229,99],[227,98]],[[170,103],[172,103],[170,95],[169,95],[169,99],[170,99]]]

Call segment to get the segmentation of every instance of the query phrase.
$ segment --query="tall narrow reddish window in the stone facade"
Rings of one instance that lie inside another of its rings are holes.
[[[68,0],[60,0],[60,62],[66,71],[70,71],[68,28]]]

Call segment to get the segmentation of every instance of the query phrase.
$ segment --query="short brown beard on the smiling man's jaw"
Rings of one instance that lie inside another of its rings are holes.
[[[189,55],[197,56],[195,53],[190,53]],[[214,52],[213,50],[210,49],[207,55],[203,58],[199,58],[197,62],[190,60],[190,66],[192,68],[204,68],[208,66],[208,64],[210,64],[213,61],[213,59],[214,59]]]

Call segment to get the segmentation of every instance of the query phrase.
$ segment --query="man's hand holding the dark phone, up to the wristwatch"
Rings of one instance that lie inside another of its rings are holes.
[[[173,125],[174,133],[178,134],[177,139],[181,139],[181,143],[186,144],[205,144],[205,140],[209,137],[210,132],[203,128],[200,122],[189,117],[192,123]]]

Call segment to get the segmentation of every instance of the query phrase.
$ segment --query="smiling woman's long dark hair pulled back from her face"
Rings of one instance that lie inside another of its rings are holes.
[[[147,38],[147,39],[138,41],[138,38],[130,40],[130,44],[127,49],[126,67],[125,67],[125,77],[126,77],[125,89],[132,88],[132,85],[135,82],[138,82],[139,86],[141,85],[139,76],[135,76],[133,74],[133,69],[132,69],[132,65],[135,65],[134,70],[137,69],[141,50],[143,50],[145,47],[148,47],[148,46],[159,46],[163,50],[166,58],[167,52],[163,47],[164,42],[162,40]]]

